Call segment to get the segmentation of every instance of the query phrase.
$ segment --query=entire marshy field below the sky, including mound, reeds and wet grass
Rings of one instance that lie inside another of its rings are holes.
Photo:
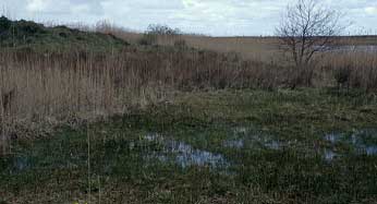
[[[377,203],[374,51],[0,28],[0,204]]]

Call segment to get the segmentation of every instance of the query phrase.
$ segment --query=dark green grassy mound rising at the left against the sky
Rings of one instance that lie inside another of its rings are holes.
[[[46,27],[31,21],[0,17],[0,46],[34,51],[114,51],[129,44],[112,35],[81,32],[66,26]]]

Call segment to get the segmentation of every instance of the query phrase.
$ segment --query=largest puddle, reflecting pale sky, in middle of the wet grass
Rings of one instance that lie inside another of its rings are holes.
[[[158,142],[162,145],[162,152],[150,153],[147,156],[148,159],[157,158],[163,163],[172,160],[182,168],[190,166],[209,166],[211,168],[229,166],[229,163],[221,154],[197,149],[184,142],[165,139],[160,134],[148,134],[145,140]]]

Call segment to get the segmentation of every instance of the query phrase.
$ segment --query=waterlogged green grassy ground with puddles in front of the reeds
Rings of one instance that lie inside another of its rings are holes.
[[[376,203],[377,98],[180,94],[0,159],[0,203]]]

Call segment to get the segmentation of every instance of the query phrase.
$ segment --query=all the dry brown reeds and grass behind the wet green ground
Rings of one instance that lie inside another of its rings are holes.
[[[98,24],[131,43],[141,34]],[[184,39],[188,47],[173,46]],[[369,38],[367,38],[369,40]],[[356,40],[352,38],[353,44]],[[363,38],[360,38],[362,44]],[[46,135],[52,127],[76,124],[134,107],[166,101],[174,92],[218,88],[289,87],[305,73],[289,65],[276,38],[159,36],[162,47],[131,46],[114,53],[36,53],[0,50],[0,133],[3,152],[11,136]],[[348,87],[377,91],[377,56],[327,52],[316,57],[309,80],[337,85],[335,72],[352,68]]]

